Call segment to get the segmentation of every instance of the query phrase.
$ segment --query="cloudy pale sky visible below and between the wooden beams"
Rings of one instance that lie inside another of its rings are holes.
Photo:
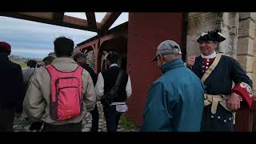
[[[95,13],[100,22],[106,13]],[[65,13],[65,15],[86,19],[85,13]],[[114,26],[128,21],[128,13],[122,13]],[[54,26],[40,22],[0,16],[0,41],[10,43],[12,53],[26,58],[44,58],[54,50],[54,39],[59,36],[71,38],[74,44],[96,35],[94,32]]]

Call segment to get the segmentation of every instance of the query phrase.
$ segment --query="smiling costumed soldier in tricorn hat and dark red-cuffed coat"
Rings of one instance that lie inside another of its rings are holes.
[[[224,40],[225,36],[218,31],[202,33],[197,40],[201,55],[186,58],[186,66],[205,85],[202,131],[233,131],[235,110],[240,103],[250,108],[254,101],[252,81],[239,63],[215,51],[218,42]]]

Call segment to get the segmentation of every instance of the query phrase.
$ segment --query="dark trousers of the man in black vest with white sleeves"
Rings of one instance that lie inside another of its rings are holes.
[[[103,105],[103,112],[106,119],[106,130],[108,132],[116,132],[122,113],[117,112],[115,106],[107,105]]]

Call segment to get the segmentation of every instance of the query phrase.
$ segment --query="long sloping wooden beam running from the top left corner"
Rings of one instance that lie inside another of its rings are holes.
[[[6,17],[11,17],[11,18],[20,18],[20,19],[25,19],[29,21],[34,21],[34,22],[42,22],[42,23],[47,23],[51,25],[56,25],[56,26],[65,26],[65,27],[70,27],[74,29],[79,29],[79,30],[88,30],[88,31],[93,31],[97,32],[96,30],[90,28],[87,26],[87,21],[84,19],[80,18],[74,18],[70,16],[63,16],[63,22],[58,22],[55,21],[54,19],[49,19],[49,18],[42,18],[37,15],[37,17],[32,16],[31,14],[21,14],[21,13],[0,13],[1,16],[6,16]]]

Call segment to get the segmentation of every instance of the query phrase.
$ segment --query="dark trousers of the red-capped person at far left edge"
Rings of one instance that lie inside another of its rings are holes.
[[[14,110],[0,108],[0,132],[14,131]]]

